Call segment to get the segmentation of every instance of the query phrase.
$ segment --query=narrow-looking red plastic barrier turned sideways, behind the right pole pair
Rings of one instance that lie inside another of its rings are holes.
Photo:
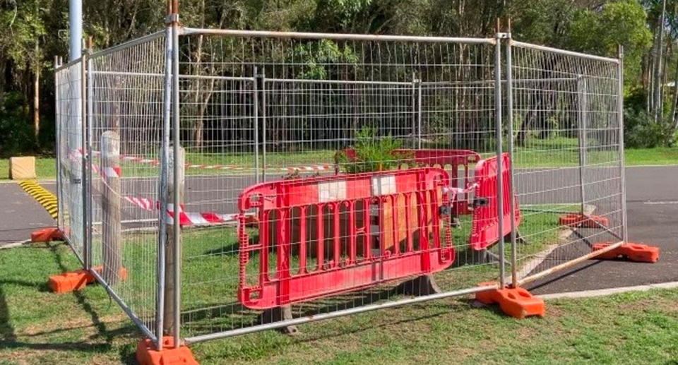
[[[503,213],[504,227],[501,237],[511,233],[511,198],[515,199],[516,227],[521,223],[521,210],[518,208],[518,198],[513,193],[510,184],[511,160],[509,155],[501,155],[501,175],[504,186]],[[477,205],[473,210],[473,223],[471,230],[470,246],[472,249],[480,251],[487,249],[495,242],[499,241],[499,213],[497,212],[496,194],[497,184],[496,176],[498,170],[496,157],[482,160],[475,165],[475,199],[484,199],[485,204]]]

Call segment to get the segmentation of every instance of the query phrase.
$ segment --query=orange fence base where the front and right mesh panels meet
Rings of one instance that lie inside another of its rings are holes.
[[[482,282],[480,285],[494,285],[493,282]],[[492,289],[475,293],[475,300],[482,304],[498,303],[504,313],[513,318],[525,318],[527,316],[543,317],[546,313],[544,300],[535,297],[521,287]]]

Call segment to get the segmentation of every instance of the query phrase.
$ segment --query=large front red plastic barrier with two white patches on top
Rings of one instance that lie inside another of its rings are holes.
[[[239,198],[239,301],[268,309],[448,268],[448,184],[424,167],[250,186]],[[258,242],[244,228],[252,209]]]

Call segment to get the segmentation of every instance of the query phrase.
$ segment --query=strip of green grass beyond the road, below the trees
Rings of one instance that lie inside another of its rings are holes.
[[[291,152],[269,154],[266,158],[269,174],[283,177],[287,174],[283,167],[307,164],[334,164],[333,150],[316,150],[311,152]],[[484,154],[485,157],[487,154]],[[670,165],[678,164],[678,148],[641,148],[625,151],[626,166],[647,164]],[[578,149],[573,138],[554,138],[553,140],[537,141],[529,148],[517,147],[515,151],[516,167],[574,167],[578,164]],[[186,169],[187,175],[205,174],[250,174],[254,166],[254,156],[235,154],[197,154],[187,152],[186,161],[192,164],[220,164],[246,169]],[[615,152],[590,151],[589,164],[616,164]],[[54,179],[56,167],[54,158],[37,157],[36,173],[38,179]],[[263,159],[260,157],[260,166]],[[123,162],[121,167],[126,176],[154,176],[158,169],[150,164]],[[8,179],[8,159],[0,159],[0,181]]]

